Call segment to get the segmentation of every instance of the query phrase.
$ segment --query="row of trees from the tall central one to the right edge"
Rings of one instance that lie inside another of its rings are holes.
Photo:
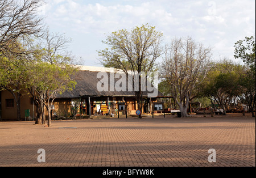
[[[213,108],[218,105],[223,115],[228,107],[246,104],[255,117],[255,37],[245,37],[234,44],[234,58],[241,59],[245,65],[227,58],[214,61],[212,49],[191,37],[175,38],[164,46],[162,41],[163,34],[148,24],[131,31],[121,29],[102,41],[109,48],[98,51],[100,62],[126,74],[129,70],[146,74],[159,71],[159,91],[173,96],[174,105],[183,117],[188,116],[189,103],[193,101]],[[161,56],[163,62],[156,63]],[[142,95],[143,91],[135,91],[139,109],[142,108]],[[171,100],[166,101],[172,104]]]

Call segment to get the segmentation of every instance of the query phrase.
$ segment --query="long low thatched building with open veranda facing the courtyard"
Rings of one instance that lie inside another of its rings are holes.
[[[108,84],[108,90],[99,91],[97,88],[97,84],[99,85],[99,83],[100,86],[102,86],[102,76],[97,76],[100,72],[104,72],[105,76],[108,76],[108,82],[104,83]],[[135,100],[135,92],[128,90],[128,82],[126,83],[125,91],[110,91],[110,82],[115,84],[120,80],[120,78],[113,77],[116,72],[118,71],[113,71],[112,68],[105,67],[80,67],[79,72],[74,76],[74,79],[77,82],[76,88],[72,91],[65,91],[63,94],[57,96],[55,99],[55,109],[57,107],[59,109],[65,108],[67,107],[67,103],[69,103],[69,105],[73,105],[75,99],[79,99],[80,113],[89,116],[103,110],[104,113],[116,114],[119,113],[117,110],[122,110],[122,108],[125,108],[125,105],[127,107],[126,110],[128,114],[134,113],[136,109],[138,109],[137,101]],[[124,78],[126,78],[126,75]],[[152,94],[153,91],[155,91],[154,94],[156,95],[148,97],[148,94]],[[152,102],[157,101],[157,98],[165,98],[165,96],[163,96],[156,88],[154,88],[153,91],[143,91],[143,112],[151,112],[150,105]],[[125,105],[119,106],[121,103],[125,103]],[[63,109],[63,111],[65,111],[65,109]]]

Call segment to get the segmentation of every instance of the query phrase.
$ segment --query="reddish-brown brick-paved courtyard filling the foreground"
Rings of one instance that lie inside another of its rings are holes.
[[[46,162],[38,162],[38,150]],[[209,149],[216,162],[209,163]],[[0,122],[0,166],[254,166],[255,118],[192,116]]]

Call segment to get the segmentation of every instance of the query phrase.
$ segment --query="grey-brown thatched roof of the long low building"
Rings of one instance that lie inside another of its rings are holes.
[[[65,91],[63,94],[57,96],[57,98],[79,98],[81,96],[124,96],[131,97],[135,96],[134,91],[98,91],[97,83],[101,79],[97,78],[98,71],[84,71],[80,70],[76,75],[76,88],[72,91]],[[110,73],[108,72],[108,75]],[[119,79],[115,79],[117,81]],[[143,92],[144,96],[147,96],[147,91]],[[163,96],[158,92],[158,96]]]

